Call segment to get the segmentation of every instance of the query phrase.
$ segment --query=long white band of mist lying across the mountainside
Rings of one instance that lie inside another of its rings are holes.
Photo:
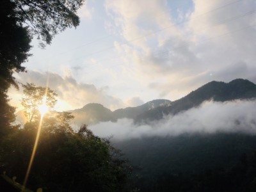
[[[197,108],[177,115],[164,116],[163,120],[135,125],[123,118],[117,122],[90,125],[94,134],[112,140],[129,140],[150,136],[179,136],[180,134],[214,134],[241,132],[256,134],[256,100],[202,103]]]

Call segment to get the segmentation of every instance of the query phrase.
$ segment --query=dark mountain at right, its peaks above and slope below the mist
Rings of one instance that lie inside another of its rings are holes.
[[[168,106],[159,106],[138,115],[135,121],[147,122],[159,120],[164,115],[176,115],[200,106],[206,100],[225,102],[255,97],[256,85],[248,80],[212,81]],[[225,130],[225,125],[222,128]],[[255,124],[252,129],[256,129]],[[231,192],[256,189],[255,139],[255,134],[241,132],[197,132],[178,136],[143,136],[114,140],[113,143],[134,167],[132,181],[140,191]]]

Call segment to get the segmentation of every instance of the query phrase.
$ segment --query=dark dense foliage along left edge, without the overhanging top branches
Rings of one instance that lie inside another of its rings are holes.
[[[31,48],[31,36],[27,27],[19,24],[15,4],[3,0],[0,6],[0,137],[10,131],[15,120],[15,108],[8,104],[7,91],[10,84],[15,84],[13,72],[23,72],[20,64],[26,61]],[[17,84],[15,84],[17,86]]]

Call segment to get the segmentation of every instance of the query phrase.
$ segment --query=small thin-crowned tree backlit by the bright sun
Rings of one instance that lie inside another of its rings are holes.
[[[49,111],[54,108],[57,100],[57,93],[51,88],[42,86],[35,86],[33,83],[22,84],[24,88],[21,104],[24,107],[25,115],[28,117],[29,122],[38,120],[40,117],[40,106],[42,106],[45,100],[45,106]]]

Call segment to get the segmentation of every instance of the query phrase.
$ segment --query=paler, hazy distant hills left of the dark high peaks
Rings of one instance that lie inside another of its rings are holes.
[[[75,109],[71,112],[75,116],[74,123],[77,125],[81,124],[97,124],[99,122],[115,122],[118,118],[136,118],[141,113],[145,113],[150,109],[157,108],[159,106],[168,106],[171,104],[170,100],[157,99],[151,100],[138,107],[129,107],[124,109],[116,109],[111,111],[108,108],[102,106],[102,104],[90,103],[86,104],[81,109]]]

